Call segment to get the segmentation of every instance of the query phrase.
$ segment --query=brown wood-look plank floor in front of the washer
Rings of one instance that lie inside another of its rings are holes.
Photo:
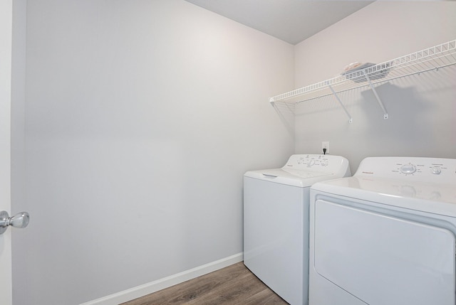
[[[243,262],[121,305],[288,305]]]

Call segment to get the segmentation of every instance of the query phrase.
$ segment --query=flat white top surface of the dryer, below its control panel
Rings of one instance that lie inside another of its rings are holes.
[[[456,187],[449,183],[353,176],[316,183],[312,190],[456,217]]]

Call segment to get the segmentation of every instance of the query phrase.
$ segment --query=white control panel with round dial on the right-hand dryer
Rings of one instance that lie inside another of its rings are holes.
[[[456,159],[372,157],[361,162],[357,175],[456,183]]]

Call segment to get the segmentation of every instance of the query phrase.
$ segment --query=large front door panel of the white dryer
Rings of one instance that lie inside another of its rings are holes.
[[[455,305],[455,235],[446,229],[315,203],[314,267],[370,305]]]

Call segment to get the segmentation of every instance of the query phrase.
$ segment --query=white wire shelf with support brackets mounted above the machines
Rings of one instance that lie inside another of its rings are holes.
[[[296,105],[318,97],[334,95],[346,112],[349,118],[348,122],[352,122],[353,119],[338,97],[338,93],[360,87],[369,87],[373,90],[378,104],[383,109],[383,118],[388,119],[388,112],[375,91],[375,85],[400,77],[438,70],[450,65],[456,65],[456,40],[378,63],[377,65],[371,65],[368,68],[351,70],[331,79],[270,97],[269,102],[272,105],[276,102]]]

